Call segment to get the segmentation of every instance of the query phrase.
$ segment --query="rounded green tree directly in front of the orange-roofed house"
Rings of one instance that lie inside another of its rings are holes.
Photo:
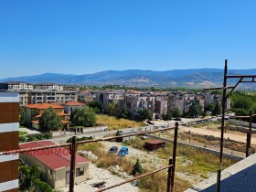
[[[45,132],[49,132],[51,130],[59,130],[62,127],[61,120],[56,112],[49,107],[43,113],[41,118],[39,119],[39,124],[41,129]]]

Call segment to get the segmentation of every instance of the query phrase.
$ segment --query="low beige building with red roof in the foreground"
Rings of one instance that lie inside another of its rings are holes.
[[[55,145],[50,141],[36,141],[27,144],[20,144],[21,149]],[[42,149],[27,153],[21,153],[20,160],[28,166],[37,165],[42,173],[42,178],[51,187],[59,188],[69,185],[70,155],[69,149],[57,147]],[[89,178],[90,160],[76,155],[76,176],[75,183],[80,183]]]

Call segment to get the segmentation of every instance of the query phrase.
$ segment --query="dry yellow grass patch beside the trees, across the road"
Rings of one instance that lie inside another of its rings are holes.
[[[142,122],[135,122],[123,118],[117,119],[116,117],[108,115],[97,115],[97,123],[108,125],[109,130],[118,130],[122,128],[139,127],[145,125]]]

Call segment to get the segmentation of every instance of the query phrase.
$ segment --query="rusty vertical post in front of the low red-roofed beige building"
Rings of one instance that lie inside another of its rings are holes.
[[[70,175],[69,175],[69,192],[74,192],[76,176],[76,154],[77,154],[77,136],[72,137],[70,146]]]

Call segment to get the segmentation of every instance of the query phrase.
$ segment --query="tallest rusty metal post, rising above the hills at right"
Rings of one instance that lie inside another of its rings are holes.
[[[228,71],[228,60],[225,59],[224,69],[224,80],[223,80],[223,92],[222,92],[222,119],[221,119],[221,135],[220,135],[220,150],[219,150],[219,170],[217,174],[217,187],[216,191],[220,191],[220,176],[222,169],[222,158],[223,158],[223,141],[224,141],[224,121],[225,121],[225,109],[226,109],[226,93],[227,93],[227,71]]]

